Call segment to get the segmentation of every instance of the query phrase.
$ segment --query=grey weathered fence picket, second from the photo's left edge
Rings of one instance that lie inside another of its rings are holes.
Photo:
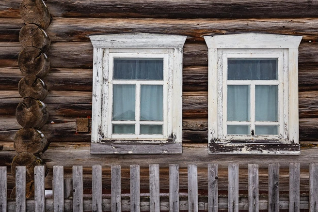
[[[27,211],[26,167],[16,167],[16,212]]]

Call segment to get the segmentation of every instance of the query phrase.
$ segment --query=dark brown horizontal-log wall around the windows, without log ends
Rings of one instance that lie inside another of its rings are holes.
[[[40,156],[52,166],[84,166],[84,185],[91,186],[91,166],[103,165],[103,182],[110,188],[110,165],[122,165],[123,188],[129,188],[129,165],[141,165],[142,189],[149,183],[149,164],[159,164],[160,186],[168,188],[169,164],[180,165],[180,189],[187,189],[188,164],[198,165],[199,189],[207,188],[207,164],[219,164],[219,186],[227,189],[227,164],[239,163],[240,190],[247,189],[247,165],[259,164],[260,189],[267,190],[267,167],[280,163],[281,190],[288,190],[288,164],[301,163],[307,176],[310,162],[318,162],[318,2],[288,0],[47,0],[53,20],[45,30],[51,40],[47,52],[50,71],[45,104],[49,119],[41,131],[48,150]],[[11,163],[16,156],[13,140],[21,126],[16,107],[22,101],[18,68],[22,51],[18,36],[24,26],[21,0],[0,3],[0,166],[8,167],[8,187],[14,187]],[[91,155],[90,133],[76,133],[77,118],[92,113],[93,46],[89,35],[145,32],[187,35],[183,54],[183,153],[179,155]],[[300,156],[207,154],[207,45],[204,35],[239,32],[302,35],[299,47]],[[309,183],[301,179],[301,188]]]

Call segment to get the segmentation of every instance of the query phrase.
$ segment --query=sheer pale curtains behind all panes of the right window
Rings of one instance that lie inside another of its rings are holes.
[[[228,59],[228,80],[277,80],[276,59]],[[227,86],[227,121],[250,121],[250,103],[255,101],[255,121],[278,121],[278,86]],[[228,135],[249,135],[249,125],[227,126]],[[256,125],[255,135],[277,135],[276,125]]]

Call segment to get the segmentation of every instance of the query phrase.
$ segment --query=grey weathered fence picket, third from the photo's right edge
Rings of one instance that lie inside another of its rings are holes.
[[[279,212],[279,164],[269,164],[268,211]]]

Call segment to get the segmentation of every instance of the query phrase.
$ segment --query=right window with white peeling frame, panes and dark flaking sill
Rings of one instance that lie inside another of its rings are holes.
[[[301,36],[206,36],[208,151],[300,154],[298,46]]]

